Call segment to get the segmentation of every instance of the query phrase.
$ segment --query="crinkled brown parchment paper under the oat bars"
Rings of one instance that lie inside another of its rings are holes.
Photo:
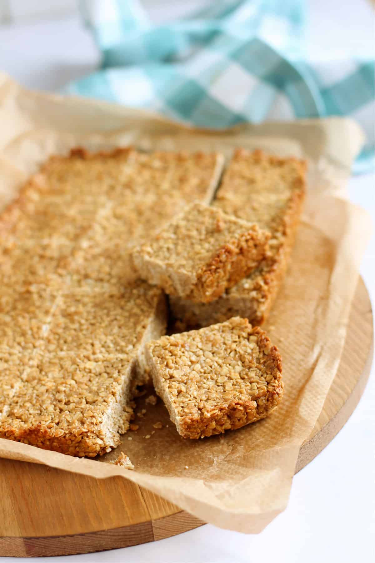
[[[272,416],[222,436],[184,440],[160,399],[152,406],[144,405],[143,397],[136,410],[147,412],[135,421],[139,430],[125,434],[121,445],[99,460],[0,439],[1,457],[97,478],[121,475],[206,522],[261,531],[286,507],[300,445],[318,419],[344,346],[371,231],[366,213],[345,200],[345,180],[363,142],[359,127],[330,118],[196,131],[123,106],[26,91],[5,75],[0,75],[0,125],[0,208],[48,155],[75,145],[97,150],[131,143],[147,150],[215,149],[228,155],[243,146],[308,159],[304,220],[265,327],[283,358],[285,393]],[[157,421],[161,430],[153,428]],[[129,455],[134,471],[108,463],[120,451]]]

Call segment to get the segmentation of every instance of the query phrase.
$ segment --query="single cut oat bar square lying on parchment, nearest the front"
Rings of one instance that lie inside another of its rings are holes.
[[[247,319],[163,336],[146,346],[153,384],[185,438],[267,417],[283,395],[275,346]]]

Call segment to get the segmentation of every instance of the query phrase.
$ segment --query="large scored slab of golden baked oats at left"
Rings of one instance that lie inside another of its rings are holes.
[[[52,157],[0,218],[0,436],[93,457],[119,443],[162,291],[130,249],[208,201],[219,155],[133,149]]]

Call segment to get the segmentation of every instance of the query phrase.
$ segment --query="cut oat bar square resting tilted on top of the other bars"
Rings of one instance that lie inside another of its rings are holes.
[[[169,295],[207,303],[259,265],[268,239],[256,224],[196,202],[135,248],[133,261]]]

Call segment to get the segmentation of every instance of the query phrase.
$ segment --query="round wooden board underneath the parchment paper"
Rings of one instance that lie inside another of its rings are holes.
[[[373,356],[371,302],[359,280],[337,376],[296,472],[336,436],[364,391]],[[0,460],[0,556],[89,553],[168,538],[204,524],[138,485]]]

